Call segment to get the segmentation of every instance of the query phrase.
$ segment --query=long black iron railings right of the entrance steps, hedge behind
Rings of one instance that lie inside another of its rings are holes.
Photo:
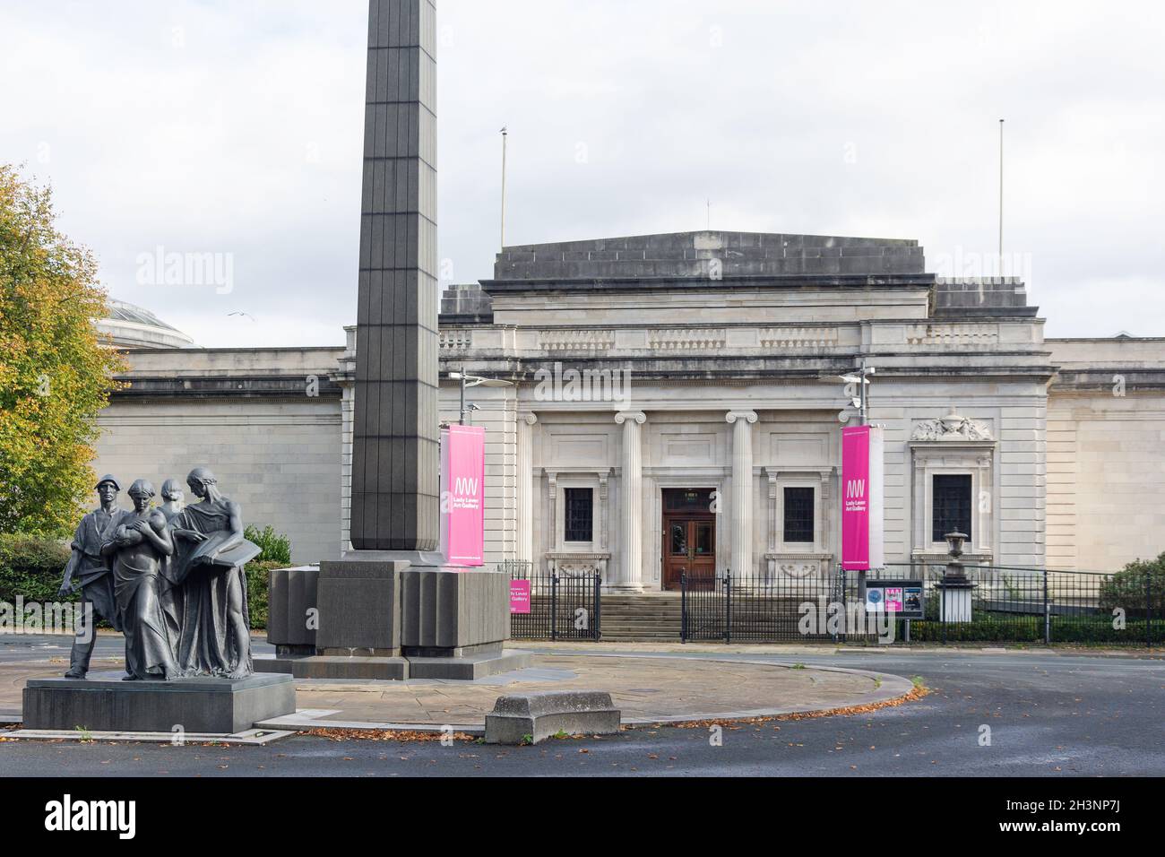
[[[945,568],[684,575],[680,640],[1165,644],[1165,575],[966,566],[958,596],[942,585]],[[923,618],[867,611],[867,583],[880,579],[922,581]]]

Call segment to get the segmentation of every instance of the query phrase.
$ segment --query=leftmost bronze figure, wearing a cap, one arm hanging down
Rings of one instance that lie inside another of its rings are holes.
[[[103,476],[96,487],[101,505],[82,518],[77,525],[71,545],[72,555],[65,566],[64,581],[57,593],[58,597],[66,598],[78,588],[82,593],[77,637],[69,655],[69,672],[65,673],[70,679],[84,679],[89,673],[89,661],[97,640],[98,618],[105,619],[115,631],[121,630],[113,591],[113,576],[105,557],[101,556],[101,545],[105,541],[105,533],[116,528],[132,513],[118,506],[118,492],[121,491],[121,486],[112,476],[108,473]]]

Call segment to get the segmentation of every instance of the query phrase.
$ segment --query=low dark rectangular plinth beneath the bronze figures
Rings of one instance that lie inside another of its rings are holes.
[[[26,729],[93,732],[233,735],[260,721],[295,714],[290,675],[122,681],[123,673],[89,679],[30,679],[24,686]]]

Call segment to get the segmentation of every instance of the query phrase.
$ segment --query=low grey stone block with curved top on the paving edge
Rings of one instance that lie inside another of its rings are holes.
[[[486,715],[487,744],[534,744],[559,732],[566,735],[614,735],[620,711],[610,694],[599,690],[550,690],[499,696]]]

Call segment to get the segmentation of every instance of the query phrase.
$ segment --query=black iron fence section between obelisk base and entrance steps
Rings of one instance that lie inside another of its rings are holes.
[[[510,613],[515,640],[599,640],[602,625],[602,581],[596,574],[564,574],[532,562],[508,560],[499,571],[530,584],[530,611]]]

